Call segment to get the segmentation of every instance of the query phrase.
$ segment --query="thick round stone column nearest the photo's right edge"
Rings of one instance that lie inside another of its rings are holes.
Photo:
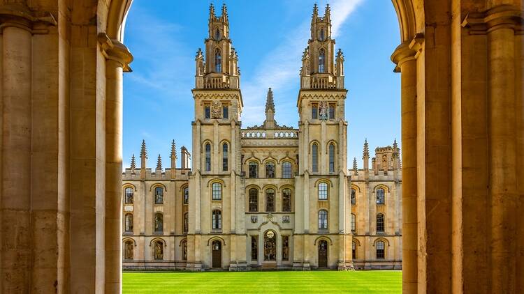
[[[501,8],[501,7],[499,7]],[[488,170],[491,291],[516,291],[516,96],[513,13],[494,8],[488,20]],[[522,150],[519,150],[522,151]],[[520,155],[522,156],[522,155]],[[521,279],[522,277],[520,277]]]

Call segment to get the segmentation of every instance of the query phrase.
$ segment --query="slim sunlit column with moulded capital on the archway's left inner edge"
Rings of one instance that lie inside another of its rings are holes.
[[[122,292],[122,71],[129,50],[99,35],[105,62],[105,292]]]

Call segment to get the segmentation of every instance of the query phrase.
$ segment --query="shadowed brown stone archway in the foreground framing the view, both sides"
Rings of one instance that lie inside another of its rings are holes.
[[[523,3],[392,0],[403,291],[524,288]],[[5,293],[119,293],[131,0],[0,4]],[[43,110],[43,111],[40,111]]]

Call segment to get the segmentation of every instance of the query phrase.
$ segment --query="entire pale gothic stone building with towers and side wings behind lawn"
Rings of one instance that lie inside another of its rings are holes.
[[[260,126],[242,127],[238,56],[226,7],[210,8],[205,52],[196,54],[192,168],[123,175],[124,268],[224,270],[401,268],[399,149],[367,141],[363,169],[347,168],[344,56],[330,8],[315,6],[303,54],[298,129],[278,125],[271,88]]]

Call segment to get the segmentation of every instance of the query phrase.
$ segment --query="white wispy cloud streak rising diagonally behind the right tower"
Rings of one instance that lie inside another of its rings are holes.
[[[342,24],[363,1],[330,1],[333,38],[338,36]],[[320,7],[324,7],[325,4],[326,1],[321,1]],[[320,14],[323,14],[322,9]],[[242,122],[245,125],[254,125],[264,120],[264,101],[268,87],[271,87],[276,93],[282,93],[299,86],[302,54],[309,38],[310,19],[308,17],[305,22],[298,25],[295,29],[291,29],[287,38],[261,59],[259,70],[255,72],[251,79],[248,78],[242,84],[242,97],[246,105],[242,114]],[[277,105],[280,104],[278,98],[275,100],[275,103]],[[286,106],[291,106],[291,103],[287,102]]]

